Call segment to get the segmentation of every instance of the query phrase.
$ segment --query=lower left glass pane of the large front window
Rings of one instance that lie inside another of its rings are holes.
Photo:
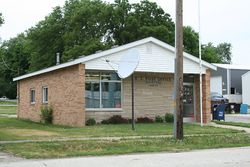
[[[86,108],[100,108],[100,86],[99,82],[85,83]]]

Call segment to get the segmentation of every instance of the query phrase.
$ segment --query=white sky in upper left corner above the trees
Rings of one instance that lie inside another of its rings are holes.
[[[5,23],[0,27],[0,37],[7,40],[37,24],[53,7],[64,0],[0,0],[0,12]]]

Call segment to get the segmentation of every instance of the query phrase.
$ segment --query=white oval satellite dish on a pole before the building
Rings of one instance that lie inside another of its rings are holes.
[[[118,75],[120,78],[124,79],[129,77],[135,71],[140,61],[140,54],[137,49],[129,50],[120,61],[118,66]]]

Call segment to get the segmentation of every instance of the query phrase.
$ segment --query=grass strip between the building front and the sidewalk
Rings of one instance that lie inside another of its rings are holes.
[[[82,128],[72,128],[55,125],[44,125],[16,118],[0,117],[0,141],[30,140],[80,137],[107,137],[107,136],[152,136],[172,135],[173,124],[154,123],[136,124],[136,130],[131,130],[130,124],[95,125]],[[237,130],[222,129],[194,124],[184,124],[184,134],[234,134],[242,133]]]

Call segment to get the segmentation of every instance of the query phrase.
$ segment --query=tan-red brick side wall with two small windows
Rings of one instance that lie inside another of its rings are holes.
[[[42,87],[48,87],[48,105],[53,107],[53,123],[69,126],[85,124],[85,67],[66,67],[18,81],[18,118],[39,122]],[[30,103],[35,89],[35,104]]]

